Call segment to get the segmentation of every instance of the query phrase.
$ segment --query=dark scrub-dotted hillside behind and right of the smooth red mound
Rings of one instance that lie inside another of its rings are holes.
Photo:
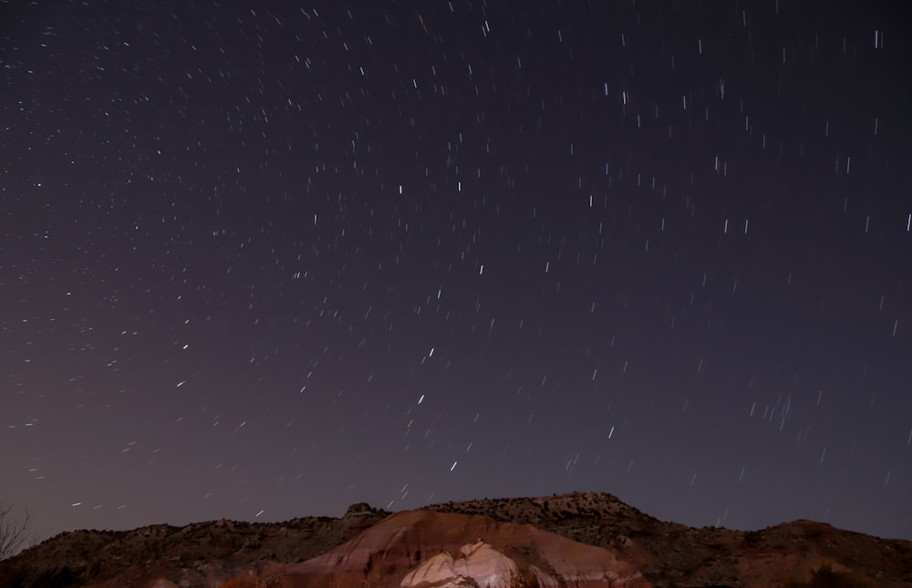
[[[884,540],[814,521],[762,531],[695,529],[658,521],[610,494],[468,500],[430,507],[485,513],[606,547],[656,586],[782,586],[829,565],[859,585],[912,586],[912,542]]]

